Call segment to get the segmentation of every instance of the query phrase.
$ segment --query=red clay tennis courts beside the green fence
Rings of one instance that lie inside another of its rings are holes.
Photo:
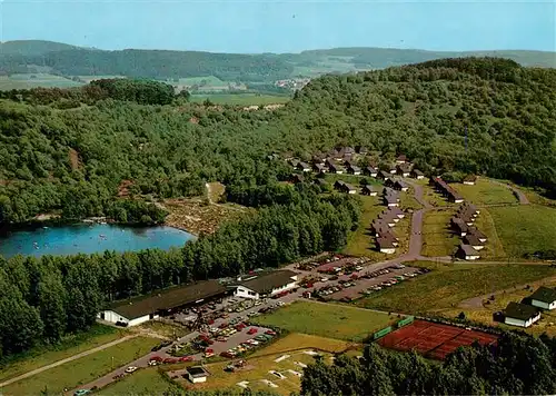
[[[444,359],[460,346],[471,345],[475,340],[483,345],[492,345],[497,336],[478,330],[415,320],[378,340],[383,347],[396,350],[411,350],[434,359]]]

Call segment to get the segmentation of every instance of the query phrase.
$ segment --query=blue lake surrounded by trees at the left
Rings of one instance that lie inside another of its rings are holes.
[[[116,225],[71,225],[13,231],[0,237],[0,255],[77,255],[105,250],[128,251],[159,248],[168,250],[193,239],[172,227],[121,227]]]

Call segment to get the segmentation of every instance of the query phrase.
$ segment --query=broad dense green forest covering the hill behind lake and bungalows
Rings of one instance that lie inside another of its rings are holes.
[[[131,195],[153,199],[200,195],[207,180],[266,185],[289,174],[270,152],[308,159],[356,145],[386,159],[404,152],[428,174],[485,174],[556,194],[554,69],[486,58],[327,76],[274,112],[180,98],[139,105],[166,102],[165,88],[102,85],[87,88],[101,92],[88,93],[89,105],[67,110],[58,108],[64,90],[0,101],[0,224],[53,209],[106,215],[125,180]]]

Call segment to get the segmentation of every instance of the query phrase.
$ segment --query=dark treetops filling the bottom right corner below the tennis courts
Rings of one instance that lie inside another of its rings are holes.
[[[346,355],[304,370],[301,394],[554,395],[556,339],[505,333],[497,346],[458,348],[441,364],[368,345],[363,359]]]

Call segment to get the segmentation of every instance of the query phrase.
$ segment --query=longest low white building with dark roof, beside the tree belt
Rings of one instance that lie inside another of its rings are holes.
[[[100,311],[97,317],[125,326],[137,326],[159,316],[171,315],[180,309],[227,295],[227,288],[218,280],[205,280],[118,301]]]

